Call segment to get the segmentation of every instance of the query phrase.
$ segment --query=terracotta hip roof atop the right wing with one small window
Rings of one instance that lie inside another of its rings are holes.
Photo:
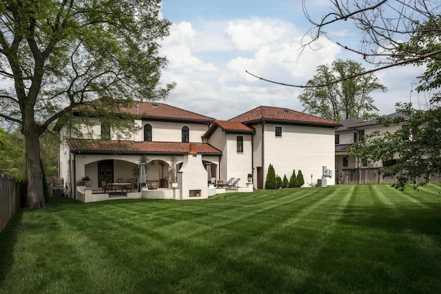
[[[329,120],[326,118],[320,118],[318,116],[311,116],[311,114],[304,114],[302,112],[296,112],[292,109],[259,106],[245,114],[240,114],[229,121],[235,121],[240,123],[260,123],[263,121],[271,121],[274,123],[291,123],[302,125],[323,125],[326,127],[338,127],[340,122],[335,120]]]

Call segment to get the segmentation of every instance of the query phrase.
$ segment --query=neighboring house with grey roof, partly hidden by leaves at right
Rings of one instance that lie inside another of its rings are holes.
[[[402,116],[399,113],[389,114],[385,118],[395,118]],[[369,160],[358,160],[348,153],[347,148],[353,143],[357,143],[363,136],[372,134],[373,132],[395,132],[400,129],[400,125],[390,125],[384,127],[380,125],[376,119],[360,120],[357,118],[348,118],[342,121],[342,126],[336,129],[336,169],[356,169],[367,167],[387,167],[393,165],[395,160],[389,162],[369,162]],[[398,154],[397,154],[398,157]]]

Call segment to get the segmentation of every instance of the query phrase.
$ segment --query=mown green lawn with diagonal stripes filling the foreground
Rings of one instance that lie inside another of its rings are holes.
[[[441,293],[440,191],[52,199],[0,234],[0,293]]]

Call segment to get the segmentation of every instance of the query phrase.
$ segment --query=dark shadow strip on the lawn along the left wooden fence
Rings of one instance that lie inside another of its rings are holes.
[[[17,228],[21,225],[23,211],[23,209],[19,209],[0,233],[0,289],[14,263],[13,253],[17,242]]]

